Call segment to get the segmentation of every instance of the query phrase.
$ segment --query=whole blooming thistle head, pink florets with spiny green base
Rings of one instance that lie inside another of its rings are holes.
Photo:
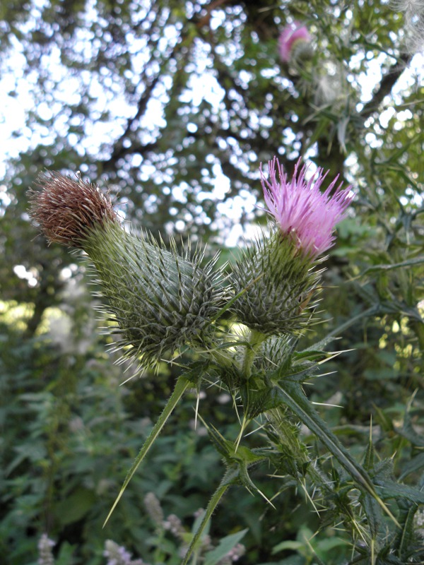
[[[307,169],[291,182],[276,158],[269,162],[270,180],[261,171],[261,184],[270,213],[276,220],[270,237],[247,249],[233,270],[232,310],[240,322],[265,335],[297,333],[310,318],[310,299],[319,281],[317,256],[334,244],[334,226],[346,215],[353,198],[350,187],[319,190],[326,174],[305,180]],[[278,177],[276,174],[278,170]]]

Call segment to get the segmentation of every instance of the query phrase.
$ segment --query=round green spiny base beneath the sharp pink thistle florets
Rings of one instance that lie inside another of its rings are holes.
[[[232,311],[238,321],[265,335],[298,333],[310,319],[310,297],[319,281],[310,258],[280,232],[244,252],[231,275]]]

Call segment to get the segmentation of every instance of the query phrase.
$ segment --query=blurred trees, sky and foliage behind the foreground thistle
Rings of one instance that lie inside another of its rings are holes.
[[[207,242],[224,259],[266,222],[260,162],[278,155],[290,173],[302,156],[352,184],[351,217],[326,262],[323,322],[304,338],[331,333],[333,348],[351,351],[310,395],[342,407],[322,414],[352,453],[364,453],[371,425],[396,476],[423,485],[424,72],[401,8],[1,4],[1,562],[35,564],[44,532],[59,565],[104,563],[107,538],[146,562],[178,562],[177,542],[154,537],[144,496],[155,493],[189,530],[223,471],[204,428],[194,430],[188,395],[102,530],[178,369],[164,364],[119,386],[131,367],[124,373],[105,352],[111,338],[99,335],[83,266],[28,221],[25,193],[43,169],[80,170],[134,226]],[[310,30],[313,54],[288,65],[278,34],[293,20]],[[202,397],[206,421],[237,429],[229,397],[214,388]],[[255,480],[269,497],[281,490],[277,510],[234,489],[212,539],[248,528],[246,565],[348,562],[342,525],[306,542],[320,520],[305,496],[266,472]]]

